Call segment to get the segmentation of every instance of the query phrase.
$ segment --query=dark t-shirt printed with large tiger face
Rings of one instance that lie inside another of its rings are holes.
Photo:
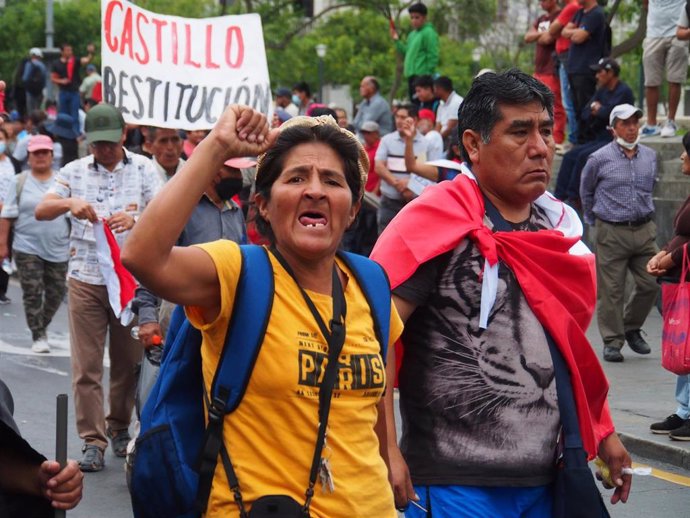
[[[533,205],[513,228],[551,224]],[[417,305],[399,375],[400,445],[415,484],[530,487],[553,478],[560,418],[544,330],[503,264],[488,328],[479,328],[483,266],[464,240],[394,291]]]

